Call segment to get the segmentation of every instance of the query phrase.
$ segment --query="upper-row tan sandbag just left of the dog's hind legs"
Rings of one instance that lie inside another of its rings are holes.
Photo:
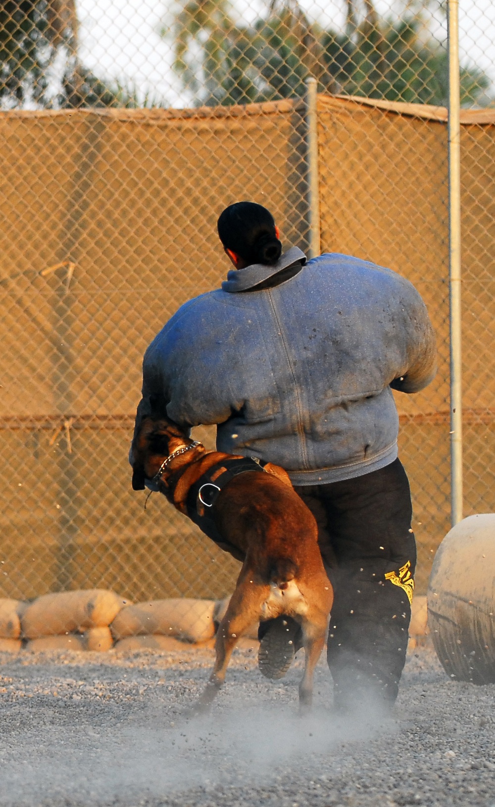
[[[156,635],[206,642],[214,636],[214,600],[152,600],[127,605],[110,630],[115,640],[127,636]]]

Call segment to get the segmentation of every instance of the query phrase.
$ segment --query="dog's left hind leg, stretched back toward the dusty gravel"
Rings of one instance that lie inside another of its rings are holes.
[[[259,621],[261,604],[266,599],[266,587],[250,582],[235,589],[223,620],[218,625],[215,642],[215,663],[210,680],[199,699],[199,709],[207,709],[225,681],[225,674],[232,650],[237,640],[246,633],[253,622]]]

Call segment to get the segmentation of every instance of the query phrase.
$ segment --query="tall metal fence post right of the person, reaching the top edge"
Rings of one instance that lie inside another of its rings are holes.
[[[459,0],[448,0],[448,202],[451,341],[451,523],[463,517]]]

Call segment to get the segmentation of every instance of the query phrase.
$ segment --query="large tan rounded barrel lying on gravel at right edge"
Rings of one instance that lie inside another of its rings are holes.
[[[428,623],[451,678],[495,683],[495,515],[469,516],[447,533],[428,587]]]

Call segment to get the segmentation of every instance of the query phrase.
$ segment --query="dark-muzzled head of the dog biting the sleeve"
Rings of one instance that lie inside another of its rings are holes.
[[[132,489],[144,490],[144,480],[152,479],[184,440],[185,433],[172,420],[145,417],[132,443]]]

